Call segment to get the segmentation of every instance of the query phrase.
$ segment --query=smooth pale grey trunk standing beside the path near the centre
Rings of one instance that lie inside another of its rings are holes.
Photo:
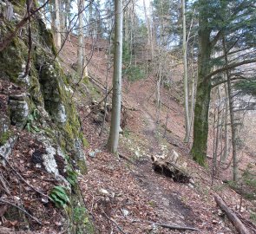
[[[122,0],[115,0],[115,54],[111,127],[108,150],[117,153],[121,120],[121,56],[122,56]]]

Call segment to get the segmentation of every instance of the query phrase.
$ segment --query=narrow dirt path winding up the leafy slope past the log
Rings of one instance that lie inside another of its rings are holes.
[[[147,108],[143,106],[143,101],[140,102],[136,95],[135,101],[140,103],[141,118],[145,119],[148,123],[142,131],[142,134],[148,140],[148,152],[151,155],[161,155],[162,144],[157,137],[157,127],[159,126],[157,126]],[[134,172],[135,179],[143,192],[151,198],[154,211],[159,215],[159,219],[169,224],[194,226],[193,211],[181,201],[181,194],[179,192],[170,189],[169,185],[174,183],[174,181],[155,173],[149,157],[138,159],[136,164],[138,170]]]

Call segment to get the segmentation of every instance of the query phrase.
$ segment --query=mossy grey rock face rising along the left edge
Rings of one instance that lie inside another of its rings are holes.
[[[0,19],[0,35],[3,38],[15,29],[16,22],[25,14],[23,7],[25,0],[10,2],[14,4],[15,15],[10,22]],[[3,8],[4,6],[0,8],[0,11]],[[64,75],[62,66],[56,57],[53,35],[46,29],[39,14],[33,16],[31,29],[33,43],[28,75],[25,72],[29,51],[27,27],[24,27],[19,36],[16,36],[9,46],[0,52],[0,79],[15,83],[20,90],[25,92],[25,94],[10,96],[9,112],[1,119],[1,125],[34,127],[36,133],[33,137],[45,147],[45,153],[42,156],[43,170],[53,173],[56,177],[61,176],[63,178],[61,180],[68,185],[68,179],[64,179],[68,163],[63,155],[69,154],[72,164],[75,162],[72,166],[80,172],[86,172],[83,146],[88,143],[81,131],[75,104],[72,101],[69,80]],[[12,137],[9,127],[5,127],[4,131],[2,128],[0,129],[2,133],[0,148],[8,154],[8,149],[6,150],[3,146],[7,143],[12,144],[10,143]],[[49,145],[46,145],[46,140]],[[63,156],[63,164],[60,164],[60,161],[57,162],[61,159],[60,154]],[[75,191],[71,194],[69,207],[69,219],[72,221],[69,233],[94,233],[88,212],[82,204],[82,196],[77,188]]]

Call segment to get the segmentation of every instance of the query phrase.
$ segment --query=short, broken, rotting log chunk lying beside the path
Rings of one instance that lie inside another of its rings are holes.
[[[170,158],[160,159],[151,156],[154,172],[159,172],[174,179],[174,182],[189,183],[191,177],[180,166],[177,166]]]

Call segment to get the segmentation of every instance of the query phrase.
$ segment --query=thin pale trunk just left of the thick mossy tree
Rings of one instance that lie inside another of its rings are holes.
[[[183,50],[183,68],[184,68],[184,109],[185,109],[185,139],[184,142],[188,142],[189,139],[189,110],[188,110],[188,88],[187,88],[187,30],[186,30],[186,9],[185,9],[185,0],[182,2],[182,28],[183,28],[183,41],[182,41],[182,50]]]

